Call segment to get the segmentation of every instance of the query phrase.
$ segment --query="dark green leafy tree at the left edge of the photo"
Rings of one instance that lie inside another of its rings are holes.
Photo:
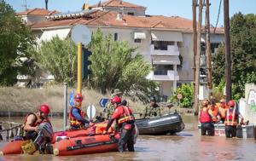
[[[0,0],[0,85],[13,85],[17,74],[29,74],[32,60],[27,49],[35,43],[9,4]]]

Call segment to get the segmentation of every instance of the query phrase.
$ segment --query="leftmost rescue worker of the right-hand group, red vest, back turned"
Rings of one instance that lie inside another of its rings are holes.
[[[200,122],[201,122],[201,135],[214,135],[214,125],[212,124],[213,115],[210,114],[208,108],[208,101],[204,100],[201,103]]]

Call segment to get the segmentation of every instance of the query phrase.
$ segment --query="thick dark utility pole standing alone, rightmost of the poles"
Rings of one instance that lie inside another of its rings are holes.
[[[225,82],[226,101],[232,99],[231,96],[231,55],[230,55],[230,14],[229,0],[224,0],[224,37],[225,37]]]

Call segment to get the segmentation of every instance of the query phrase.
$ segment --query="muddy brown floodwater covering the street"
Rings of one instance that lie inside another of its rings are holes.
[[[54,155],[12,155],[0,160],[256,160],[254,139],[226,139],[220,136],[201,136],[197,129],[197,118],[183,115],[185,129],[177,135],[139,135],[136,152],[108,152],[72,157]],[[8,118],[0,118],[0,121]],[[19,118],[12,121],[20,122]],[[19,120],[19,121],[18,121]],[[61,129],[61,118],[54,118],[53,125]],[[56,130],[57,130],[56,129]],[[3,147],[5,142],[0,142]]]

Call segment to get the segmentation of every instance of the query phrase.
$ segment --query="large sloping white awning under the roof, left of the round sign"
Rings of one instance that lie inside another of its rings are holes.
[[[65,39],[67,37],[67,35],[69,34],[70,30],[71,30],[70,28],[67,28],[67,29],[44,31],[42,36],[40,37],[40,42],[49,41],[55,36],[58,36],[61,39]]]

